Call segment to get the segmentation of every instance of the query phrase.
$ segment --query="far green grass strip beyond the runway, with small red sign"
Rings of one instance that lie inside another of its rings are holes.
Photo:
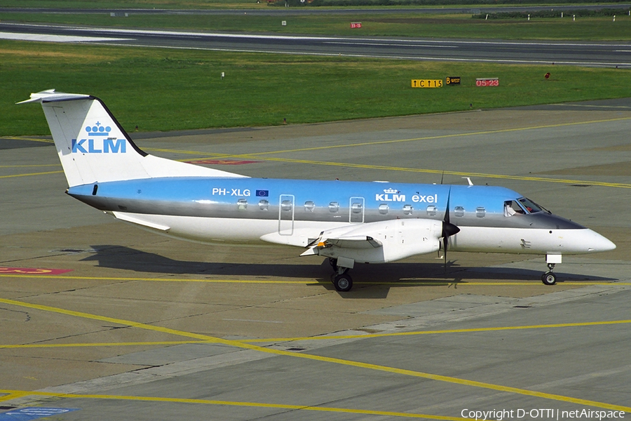
[[[559,13],[560,15],[560,13]],[[0,13],[4,22],[50,22],[137,28],[169,28],[228,32],[271,32],[353,36],[419,36],[426,38],[555,39],[623,41],[631,39],[631,16],[480,20],[471,15],[426,13],[387,15],[141,15],[111,18],[109,14]],[[287,26],[280,25],[282,20]],[[351,29],[350,22],[362,22]]]

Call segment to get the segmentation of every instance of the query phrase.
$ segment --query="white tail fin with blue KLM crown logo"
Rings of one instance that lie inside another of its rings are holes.
[[[18,104],[25,102],[41,103],[70,187],[135,178],[243,177],[143,152],[91,95],[50,89]]]

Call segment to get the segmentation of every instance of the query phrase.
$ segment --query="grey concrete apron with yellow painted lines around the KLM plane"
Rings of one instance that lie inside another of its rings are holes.
[[[434,254],[359,265],[348,293],[334,290],[327,262],[297,248],[205,246],[116,222],[64,194],[50,140],[2,139],[0,421],[20,411],[620,418],[631,411],[630,133],[627,99],[131,134],[151,154],[257,177],[470,177],[618,246],[564,257],[555,286],[541,283],[543,257],[449,253],[446,273]]]

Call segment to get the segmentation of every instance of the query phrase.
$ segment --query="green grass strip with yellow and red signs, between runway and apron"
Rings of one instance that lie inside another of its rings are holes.
[[[226,73],[224,80],[221,72]],[[552,76],[545,80],[543,75]],[[461,86],[411,88],[411,79],[461,76]],[[497,88],[476,77],[498,76]],[[29,93],[89,93],[125,129],[268,126],[449,112],[631,95],[631,71],[562,66],[414,62],[173,51],[0,41],[0,135],[43,135]]]

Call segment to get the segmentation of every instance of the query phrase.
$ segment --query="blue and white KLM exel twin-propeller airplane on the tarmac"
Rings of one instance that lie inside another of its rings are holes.
[[[562,255],[613,250],[596,232],[504,187],[250,178],[142,151],[92,95],[32,93],[67,178],[66,193],[116,220],[201,243],[273,243],[328,258],[334,288],[355,263],[442,250]]]

